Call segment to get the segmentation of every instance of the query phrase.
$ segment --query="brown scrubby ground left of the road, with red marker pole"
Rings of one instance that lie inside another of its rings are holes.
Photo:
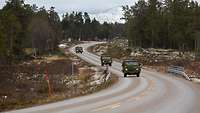
[[[98,81],[104,70],[70,54],[67,48],[60,50],[20,64],[0,65],[0,112],[91,94],[117,82],[114,75]]]

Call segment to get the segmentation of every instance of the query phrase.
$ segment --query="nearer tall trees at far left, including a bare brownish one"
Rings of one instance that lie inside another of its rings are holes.
[[[0,25],[0,64],[25,59],[27,48],[36,54],[53,52],[61,39],[60,19],[54,8],[37,8],[23,0],[7,1],[0,10]]]

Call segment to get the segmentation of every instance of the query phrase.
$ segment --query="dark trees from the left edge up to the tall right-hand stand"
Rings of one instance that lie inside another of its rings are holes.
[[[121,35],[122,24],[101,24],[88,13],[66,13],[61,20],[54,7],[46,10],[23,0],[7,0],[0,9],[0,64],[12,64],[36,55],[57,51],[64,39],[98,40]]]

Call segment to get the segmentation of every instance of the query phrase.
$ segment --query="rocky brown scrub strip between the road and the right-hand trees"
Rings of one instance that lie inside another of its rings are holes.
[[[117,45],[120,45],[120,42]],[[200,60],[195,59],[194,53],[191,52],[182,53],[173,49],[134,49],[115,46],[115,44],[113,46],[113,42],[110,44],[98,44],[92,46],[89,50],[97,55],[108,54],[117,61],[134,58],[139,60],[143,66],[161,72],[166,72],[167,67],[171,65],[182,66],[190,77],[200,78]]]

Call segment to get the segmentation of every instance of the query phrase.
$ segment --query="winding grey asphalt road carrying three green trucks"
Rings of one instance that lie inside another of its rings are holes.
[[[96,44],[81,44],[83,60],[100,66],[100,58],[86,51]],[[74,53],[74,48],[71,49]],[[74,53],[75,54],[75,53]],[[141,77],[123,77],[121,63],[114,62],[109,70],[119,82],[100,92],[11,113],[200,113],[200,85],[182,78],[142,70]]]

